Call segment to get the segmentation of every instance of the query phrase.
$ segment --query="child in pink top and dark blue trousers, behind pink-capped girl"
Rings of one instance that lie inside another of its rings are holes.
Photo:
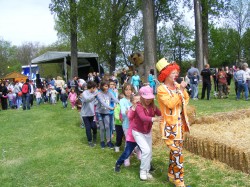
[[[124,152],[122,153],[122,155],[119,157],[119,159],[116,161],[115,164],[115,171],[116,172],[120,172],[120,167],[121,165],[124,163],[124,165],[126,164],[125,161],[129,159],[129,156],[131,155],[131,153],[133,152],[133,150],[136,148],[137,143],[135,142],[135,139],[132,135],[132,121],[135,117],[135,109],[136,109],[136,105],[137,103],[140,101],[140,96],[134,96],[132,99],[132,107],[129,109],[128,111],[128,118],[129,118],[129,128],[128,128],[128,132],[127,132],[127,136],[126,136],[126,147]],[[138,150],[138,153],[140,153],[140,150]],[[138,159],[139,156],[138,156]],[[126,165],[125,165],[126,166]]]

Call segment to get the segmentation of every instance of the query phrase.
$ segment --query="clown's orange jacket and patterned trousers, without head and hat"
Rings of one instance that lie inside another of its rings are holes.
[[[161,135],[170,148],[168,178],[178,186],[184,185],[183,168],[183,133],[189,132],[186,106],[189,95],[186,90],[180,90],[180,84],[174,83],[175,88],[161,84],[157,88],[157,98],[163,117],[160,124]]]

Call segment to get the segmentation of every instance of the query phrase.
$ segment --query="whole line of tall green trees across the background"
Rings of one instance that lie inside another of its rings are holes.
[[[194,34],[197,29],[185,19],[185,8],[189,8],[194,15],[194,2],[199,2],[201,37]],[[149,5],[152,8],[148,15],[153,18],[153,23],[146,27],[143,15]],[[101,64],[110,73],[117,66],[130,65],[127,57],[136,51],[149,51],[146,52],[149,56],[145,56],[145,64],[150,64],[148,67],[154,67],[157,59],[162,57],[186,65],[195,54],[199,54],[198,47],[194,50],[199,39],[203,54],[194,59],[200,68],[205,63],[222,66],[242,60],[250,62],[249,7],[249,0],[52,0],[50,10],[55,16],[60,43],[37,46],[39,50],[31,55],[25,52],[25,45],[12,46],[10,42],[2,40],[1,71],[2,74],[8,72],[9,63],[15,64],[9,66],[11,68],[27,64],[28,59],[39,55],[46,48],[60,50],[62,43],[64,50],[74,48],[75,51],[97,53]],[[193,23],[194,19],[195,15]],[[148,34],[153,38],[150,39],[153,44],[151,49],[147,49],[144,47],[148,46],[146,35],[153,27],[153,32]],[[77,41],[75,47],[70,46],[71,34],[74,32],[74,41]],[[37,47],[35,44],[31,46],[34,51]],[[153,49],[155,52],[152,52]],[[75,70],[71,73],[75,74],[74,72]]]

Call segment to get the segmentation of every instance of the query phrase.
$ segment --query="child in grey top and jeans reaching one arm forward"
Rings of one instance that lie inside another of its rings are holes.
[[[97,106],[96,111],[99,114],[99,125],[100,125],[100,136],[101,136],[101,148],[105,148],[105,142],[104,142],[104,133],[106,131],[106,140],[107,140],[107,146],[110,149],[114,148],[113,143],[110,139],[110,128],[109,128],[109,112],[110,110],[114,110],[113,107],[110,107],[110,102],[114,101],[115,103],[118,103],[119,100],[111,94],[109,91],[109,82],[103,81],[100,84],[100,92],[97,95]],[[100,117],[100,118],[99,118]]]

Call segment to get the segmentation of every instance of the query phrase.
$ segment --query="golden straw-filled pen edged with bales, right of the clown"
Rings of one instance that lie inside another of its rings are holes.
[[[250,173],[249,124],[250,110],[201,117],[192,125],[185,149]]]

